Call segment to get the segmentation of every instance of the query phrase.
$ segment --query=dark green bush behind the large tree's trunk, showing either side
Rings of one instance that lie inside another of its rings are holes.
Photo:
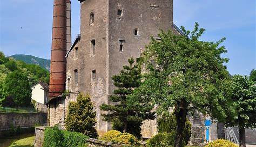
[[[161,117],[158,119],[158,133],[170,133],[176,135],[176,116],[174,113],[170,114],[169,112],[163,113]],[[188,141],[190,141],[191,137],[191,123],[186,119],[185,127],[182,134],[183,146],[187,145]]]

